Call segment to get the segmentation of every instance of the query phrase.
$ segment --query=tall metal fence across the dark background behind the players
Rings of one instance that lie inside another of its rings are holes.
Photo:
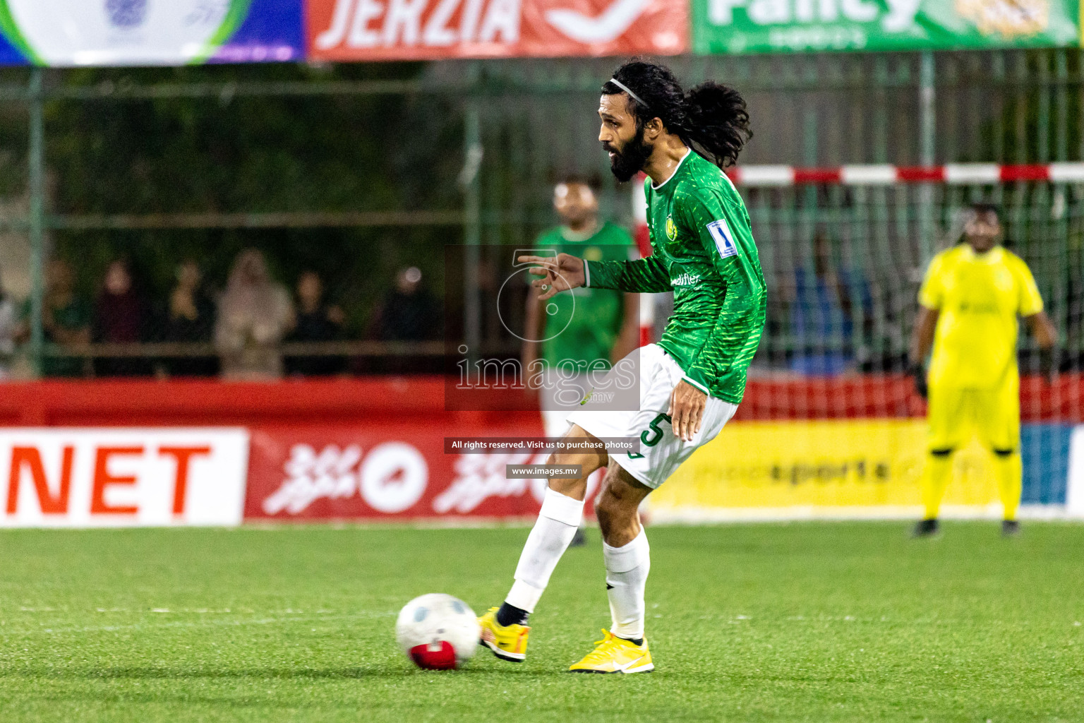
[[[1084,159],[1082,57],[1079,50],[817,54],[680,57],[671,65],[688,82],[715,78],[746,95],[756,135],[743,163],[1045,163]],[[180,347],[153,335],[120,346],[50,341],[46,260],[66,258],[88,298],[112,258],[149,260],[149,294],[164,302],[184,258],[203,263],[220,289],[236,254],[255,246],[286,284],[317,268],[345,312],[336,346],[294,341],[291,356],[336,356],[346,360],[341,371],[433,369],[424,360],[439,354],[435,337],[380,332],[376,310],[395,294],[397,273],[416,267],[439,299],[443,245],[529,245],[554,222],[556,175],[605,176],[594,112],[616,63],[5,70],[0,259],[9,268],[0,274],[11,296],[27,299],[16,356],[25,370],[66,356],[79,361],[69,366],[77,374],[94,373],[87,361],[94,356],[212,359],[210,338]],[[295,119],[304,132],[254,121],[263,117]],[[190,156],[141,145],[144,135],[168,135],[155,125],[164,118],[180,119],[178,138],[205,133],[206,143],[192,141]],[[144,133],[153,128],[157,134]],[[136,151],[119,158],[103,151],[128,146]],[[178,157],[198,162],[205,188],[185,188],[189,169]],[[151,188],[158,189],[153,203]],[[164,188],[177,189],[176,203]],[[814,330],[796,328],[792,281],[796,269],[813,263],[821,233],[863,309],[829,346],[848,347],[863,370],[894,367],[916,274],[951,240],[959,206],[977,197],[1004,204],[1008,236],[1032,263],[1067,344],[1074,353],[1084,348],[1080,184],[801,186],[746,196],[773,285],[758,364],[786,366],[796,349],[823,341]],[[602,208],[628,223],[628,189],[607,185]],[[474,281],[485,284],[487,267],[478,268]],[[498,344],[478,321],[480,298],[468,294],[463,305],[465,333]]]

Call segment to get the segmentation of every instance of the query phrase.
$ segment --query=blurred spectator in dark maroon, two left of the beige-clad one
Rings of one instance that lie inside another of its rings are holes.
[[[146,340],[150,308],[132,273],[131,261],[115,259],[105,269],[102,291],[94,302],[92,338],[101,344],[139,344]],[[152,366],[137,357],[99,357],[95,376],[146,376]]]

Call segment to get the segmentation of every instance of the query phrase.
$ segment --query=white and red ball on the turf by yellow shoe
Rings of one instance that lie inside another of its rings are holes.
[[[480,633],[474,610],[443,593],[415,597],[396,621],[399,647],[426,670],[450,670],[465,663],[474,657]]]

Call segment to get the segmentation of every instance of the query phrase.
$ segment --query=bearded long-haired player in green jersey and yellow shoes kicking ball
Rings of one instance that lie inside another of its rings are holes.
[[[636,673],[655,668],[644,637],[650,556],[637,508],[734,416],[764,326],[766,291],[749,215],[721,170],[737,159],[750,135],[741,96],[710,81],[686,93],[669,68],[631,61],[603,85],[598,116],[598,140],[618,180],[641,170],[648,176],[653,255],[635,261],[568,254],[519,260],[540,264],[534,273],[542,279],[534,286],[543,300],[581,286],[673,292],[674,312],[659,344],[633,352],[640,361],[640,408],[593,410],[592,398],[568,418],[566,442],[638,437],[640,451],[550,457],[551,464],[580,465],[580,476],[550,480],[512,590],[479,624],[482,644],[496,657],[526,657],[528,616],[580,524],[588,476],[605,466],[596,513],[612,627],[569,670]]]

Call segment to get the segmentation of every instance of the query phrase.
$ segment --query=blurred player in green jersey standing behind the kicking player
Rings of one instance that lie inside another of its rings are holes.
[[[535,254],[571,254],[589,261],[624,261],[638,256],[628,231],[598,218],[601,185],[597,175],[570,173],[554,186],[553,208],[562,224],[539,235]],[[545,301],[528,294],[522,363],[528,372],[543,366],[542,373],[549,377],[540,385],[539,400],[546,437],[560,438],[568,431],[569,412],[591,391],[589,370],[608,370],[636,348],[638,322],[635,294],[580,287]],[[535,364],[540,351],[542,364]],[[559,373],[566,378],[557,385]],[[580,391],[576,399],[569,395],[563,399],[556,393],[562,389]],[[601,474],[594,475],[589,487],[596,486]],[[585,541],[581,524],[570,546]]]

